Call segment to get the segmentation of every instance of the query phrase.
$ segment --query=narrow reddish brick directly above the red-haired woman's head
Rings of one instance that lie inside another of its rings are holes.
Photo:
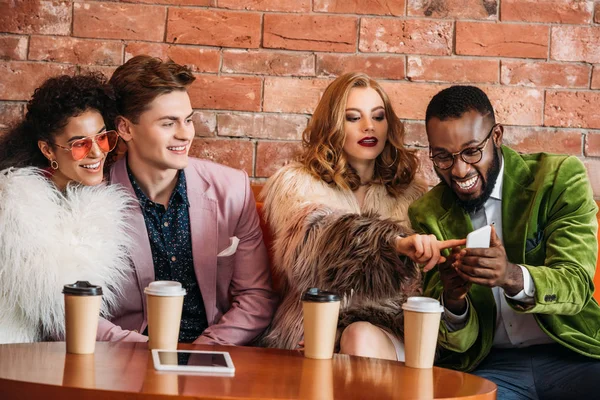
[[[355,71],[371,78],[404,79],[404,56],[317,54],[317,76],[339,76]]]

